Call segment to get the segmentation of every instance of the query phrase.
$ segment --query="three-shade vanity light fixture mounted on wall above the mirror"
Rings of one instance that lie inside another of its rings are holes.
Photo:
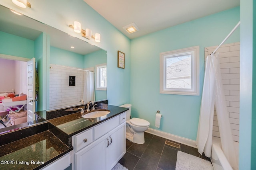
[[[82,33],[82,37],[85,37],[87,39],[93,38],[95,39],[95,42],[100,42],[100,34],[95,33],[95,36],[92,35],[92,30],[89,28],[81,29],[81,23],[78,21],[74,21],[74,25],[69,25],[70,28],[73,28],[76,33]]]

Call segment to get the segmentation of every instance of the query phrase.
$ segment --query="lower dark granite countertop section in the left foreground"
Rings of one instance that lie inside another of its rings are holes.
[[[46,166],[73,150],[73,147],[67,147],[47,130],[2,145],[0,150],[1,170],[32,170]]]

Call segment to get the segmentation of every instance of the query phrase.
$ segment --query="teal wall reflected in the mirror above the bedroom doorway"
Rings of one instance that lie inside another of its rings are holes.
[[[32,59],[34,41],[0,31],[0,53]]]

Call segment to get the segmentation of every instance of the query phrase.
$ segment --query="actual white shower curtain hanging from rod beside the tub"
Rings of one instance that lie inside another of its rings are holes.
[[[228,159],[228,162],[230,162],[230,165],[234,169],[238,169],[238,158],[235,154],[232,133],[228,119],[228,111],[226,107],[224,90],[222,87],[218,54],[209,55],[206,59],[204,87],[202,92],[202,102],[196,139],[198,152],[200,154],[204,152],[207,157],[211,156],[212,149],[214,103],[218,117],[222,150]]]

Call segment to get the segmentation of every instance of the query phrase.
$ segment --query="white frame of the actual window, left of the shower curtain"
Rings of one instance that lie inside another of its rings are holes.
[[[166,58],[192,53],[191,88],[166,88]],[[199,46],[160,53],[160,94],[199,96]]]

